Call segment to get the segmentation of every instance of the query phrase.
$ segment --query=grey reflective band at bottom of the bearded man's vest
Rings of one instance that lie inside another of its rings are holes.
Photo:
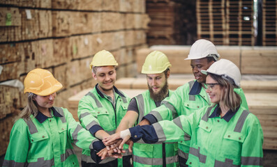
[[[147,158],[147,157],[138,157],[136,155],[133,155],[133,161],[140,164],[151,165],[151,166],[163,165],[163,158]],[[166,161],[166,164],[177,163],[178,155],[175,155],[173,157],[166,157],[165,161]]]

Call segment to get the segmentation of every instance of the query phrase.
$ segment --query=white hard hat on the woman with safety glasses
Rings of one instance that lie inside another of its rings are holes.
[[[223,79],[230,81],[231,84],[240,87],[241,72],[239,71],[239,67],[227,59],[222,58],[219,61],[214,62],[208,70],[201,70],[201,72],[203,74],[209,72],[211,74],[220,75]]]

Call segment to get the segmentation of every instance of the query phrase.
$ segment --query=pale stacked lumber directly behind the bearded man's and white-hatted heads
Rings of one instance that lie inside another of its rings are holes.
[[[235,63],[241,74],[277,74],[277,48],[276,47],[238,47],[216,46],[220,58]],[[179,74],[191,74],[188,57],[190,46],[159,45],[137,50],[137,73],[142,71],[142,65],[147,55],[154,50],[162,51],[172,64],[170,71]],[[264,65],[267,67],[265,68]]]

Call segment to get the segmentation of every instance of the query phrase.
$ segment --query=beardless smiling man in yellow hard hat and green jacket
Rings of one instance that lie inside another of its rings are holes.
[[[98,51],[93,56],[90,67],[97,84],[82,97],[78,106],[81,125],[100,140],[114,134],[130,102],[130,97],[114,86],[117,65],[110,51]],[[107,148],[102,151],[107,153]],[[89,150],[83,150],[82,166],[131,166],[131,158],[132,154],[126,149],[122,159],[108,157],[96,162],[91,159]]]

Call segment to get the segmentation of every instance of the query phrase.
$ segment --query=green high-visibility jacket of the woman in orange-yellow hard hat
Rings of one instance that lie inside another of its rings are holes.
[[[36,118],[15,122],[3,166],[79,166],[72,143],[93,149],[98,139],[67,109],[52,107],[51,112],[52,118],[38,112]]]

